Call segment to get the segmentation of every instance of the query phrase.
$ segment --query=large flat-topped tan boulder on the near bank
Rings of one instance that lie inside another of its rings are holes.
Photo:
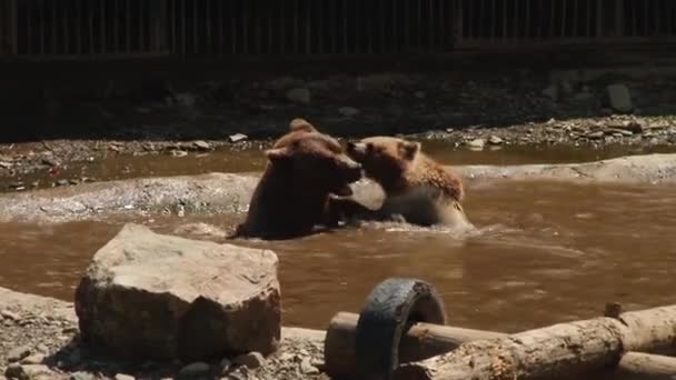
[[[270,353],[280,338],[277,264],[269,250],[126,224],[76,291],[81,336],[122,358]]]

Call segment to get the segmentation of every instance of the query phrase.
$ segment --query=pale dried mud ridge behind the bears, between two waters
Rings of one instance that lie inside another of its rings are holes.
[[[676,154],[623,157],[574,164],[455,167],[471,188],[484,180],[676,182]],[[0,220],[69,221],[110,214],[245,212],[258,173],[135,179],[87,183],[0,197]],[[356,197],[377,202],[381,191],[362,180]],[[471,190],[470,190],[471,191]]]

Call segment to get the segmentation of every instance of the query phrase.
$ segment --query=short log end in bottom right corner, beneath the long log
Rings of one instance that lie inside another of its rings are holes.
[[[615,380],[674,380],[676,358],[643,352],[627,352],[614,373]]]

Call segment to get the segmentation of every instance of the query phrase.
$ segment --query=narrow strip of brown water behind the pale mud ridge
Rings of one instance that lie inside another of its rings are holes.
[[[674,147],[662,146],[645,148],[605,146],[599,149],[568,146],[500,146],[487,147],[483,151],[470,151],[465,147],[455,147],[441,140],[426,140],[422,143],[426,152],[447,164],[567,163],[597,161],[637,153],[676,151]],[[0,191],[13,191],[13,188],[17,187],[16,183],[22,183],[26,189],[33,187],[48,188],[57,184],[61,179],[79,182],[82,180],[101,181],[139,177],[197,174],[213,171],[261,171],[265,167],[262,147],[257,146],[237,152],[221,150],[209,153],[190,153],[185,157],[172,157],[169,154],[111,154],[98,161],[69,163],[59,168],[57,176],[49,174],[49,168],[22,178],[2,178],[0,176]]]

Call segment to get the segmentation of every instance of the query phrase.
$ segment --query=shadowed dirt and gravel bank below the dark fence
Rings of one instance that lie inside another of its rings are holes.
[[[563,71],[524,66],[226,78],[220,70],[181,79],[102,74],[83,80],[82,72],[70,72],[61,81],[12,79],[2,83],[16,91],[6,91],[11,97],[4,101],[0,97],[0,107],[7,108],[0,189],[97,180],[69,168],[120,156],[265,144],[295,117],[338,137],[401,133],[459,149],[475,140],[488,146],[491,137],[504,146],[676,149],[675,72],[657,64]],[[612,84],[628,89],[626,109],[613,108]],[[40,182],[28,176],[34,172],[46,173]]]

